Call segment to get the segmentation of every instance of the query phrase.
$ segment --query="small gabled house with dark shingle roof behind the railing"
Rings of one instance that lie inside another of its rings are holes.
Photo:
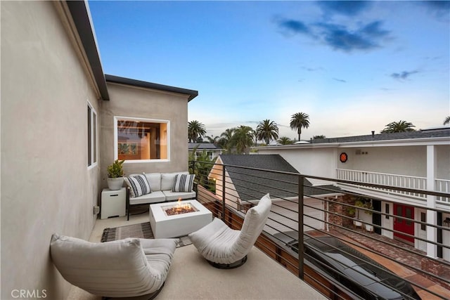
[[[215,193],[219,197],[223,190],[223,169],[226,177],[226,204],[238,211],[245,211],[251,203],[257,203],[266,193],[270,194],[272,205],[270,220],[266,226],[267,233],[292,230],[298,227],[298,171],[286,162],[281,155],[219,155],[210,171],[210,178],[216,182]],[[241,169],[239,167],[254,169]],[[290,174],[276,173],[274,171]],[[335,185],[313,186],[304,179],[304,230],[325,229],[325,197],[342,195]],[[312,216],[310,218],[309,216]]]

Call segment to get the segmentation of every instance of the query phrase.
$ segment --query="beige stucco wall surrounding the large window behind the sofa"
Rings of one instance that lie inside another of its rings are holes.
[[[169,121],[169,160],[124,163],[125,174],[143,171],[172,172],[188,170],[188,96],[108,83],[109,101],[101,103],[101,165],[108,166],[114,157],[114,117],[134,117]],[[101,169],[102,187],[107,187],[106,169]]]

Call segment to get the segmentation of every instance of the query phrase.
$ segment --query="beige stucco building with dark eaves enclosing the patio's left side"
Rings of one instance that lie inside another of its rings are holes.
[[[1,299],[67,298],[51,235],[89,239],[113,159],[186,171],[197,94],[105,75],[87,1],[1,2]]]

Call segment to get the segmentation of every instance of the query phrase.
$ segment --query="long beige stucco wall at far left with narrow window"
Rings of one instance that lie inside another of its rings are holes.
[[[49,243],[55,232],[88,239],[94,226],[86,100],[98,112],[56,6],[1,1],[1,299],[68,296]]]

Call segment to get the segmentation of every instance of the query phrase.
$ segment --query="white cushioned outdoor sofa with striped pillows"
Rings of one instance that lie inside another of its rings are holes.
[[[132,174],[127,183],[127,219],[130,205],[152,204],[195,198],[195,175],[187,171],[174,173]]]

